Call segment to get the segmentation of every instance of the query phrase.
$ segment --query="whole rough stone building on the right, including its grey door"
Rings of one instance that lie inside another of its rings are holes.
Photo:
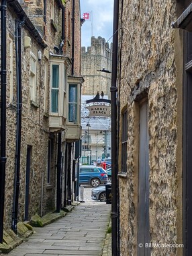
[[[190,3],[119,3],[122,256],[192,253]]]

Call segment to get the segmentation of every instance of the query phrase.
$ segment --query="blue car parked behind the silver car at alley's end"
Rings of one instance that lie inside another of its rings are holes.
[[[100,184],[108,183],[107,172],[97,166],[86,165],[79,168],[79,185],[87,184],[98,187]]]

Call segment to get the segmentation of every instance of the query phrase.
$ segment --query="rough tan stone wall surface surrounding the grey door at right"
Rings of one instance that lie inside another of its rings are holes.
[[[137,255],[138,251],[139,104],[144,97],[149,106],[151,243],[183,243],[179,133],[183,50],[182,34],[171,28],[177,20],[176,7],[175,1],[164,0],[131,0],[120,7],[120,109],[128,108],[128,171],[126,179],[119,177],[121,255]],[[121,132],[122,128],[119,137]],[[181,254],[182,249],[151,250],[153,256]]]

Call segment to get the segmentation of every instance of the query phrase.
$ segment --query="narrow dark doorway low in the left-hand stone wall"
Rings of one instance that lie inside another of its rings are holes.
[[[26,161],[26,201],[25,201],[24,220],[28,220],[29,218],[31,158],[32,158],[32,146],[28,146],[27,161]]]

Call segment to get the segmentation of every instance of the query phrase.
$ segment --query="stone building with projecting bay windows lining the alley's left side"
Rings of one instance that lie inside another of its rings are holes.
[[[6,15],[3,203],[4,228],[14,229],[17,219],[59,211],[78,196],[73,172],[81,138],[80,3],[8,0]]]

